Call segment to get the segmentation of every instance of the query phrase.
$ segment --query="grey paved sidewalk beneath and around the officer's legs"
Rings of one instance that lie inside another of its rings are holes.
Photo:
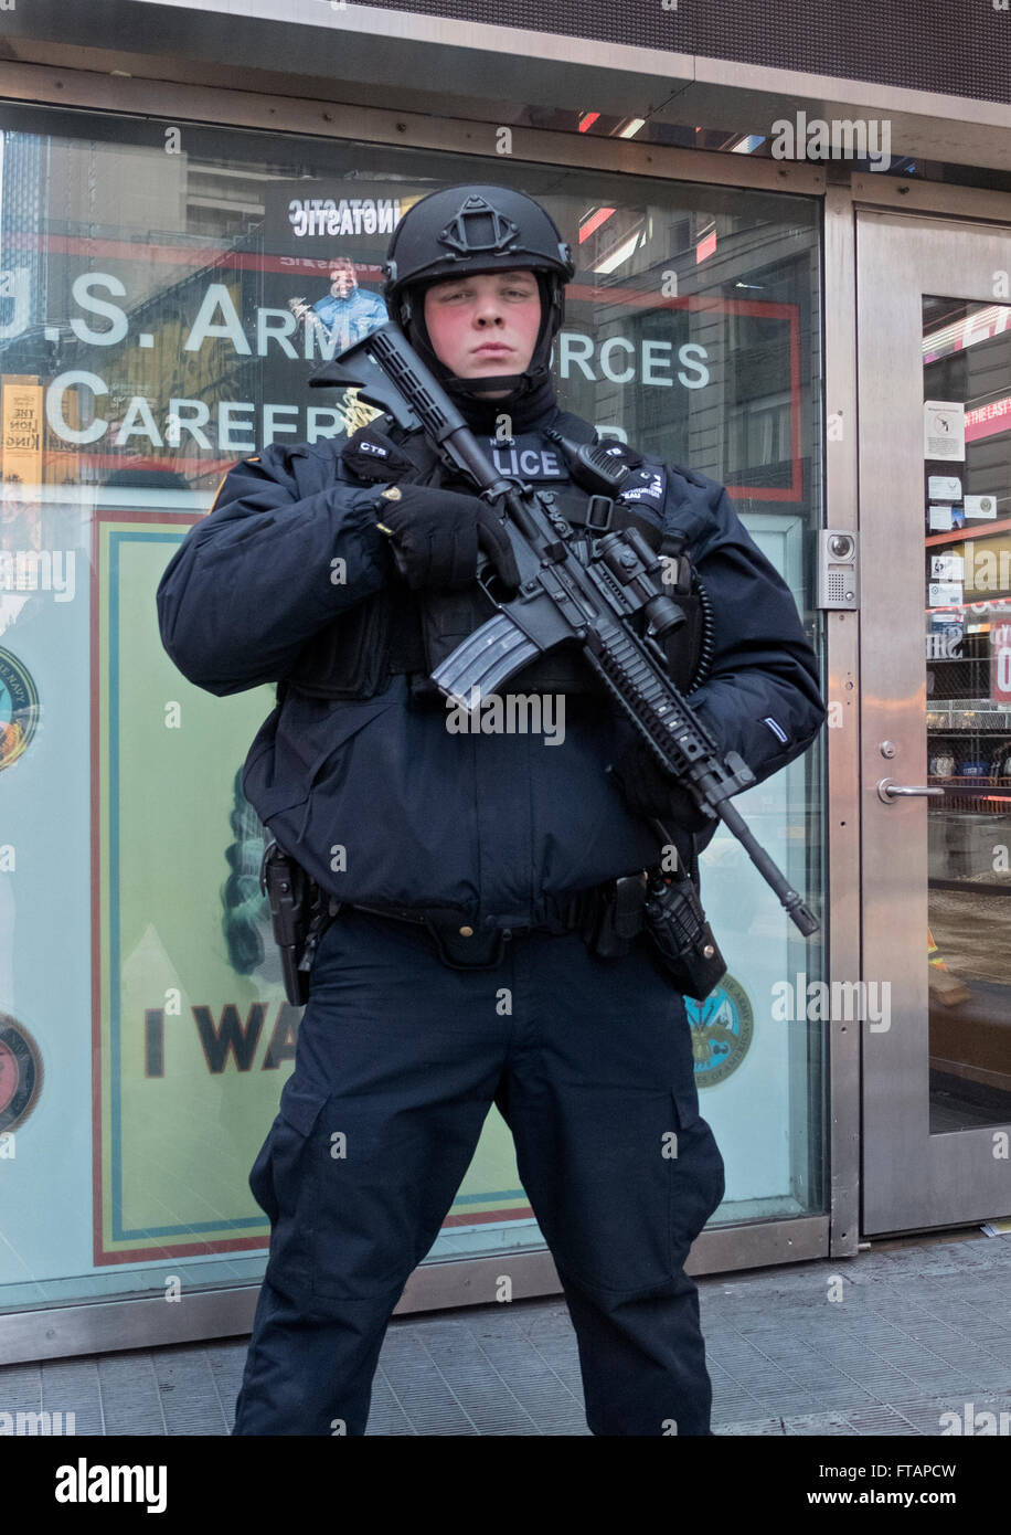
[[[967,1405],[976,1423],[1011,1414],[1011,1236],[905,1239],[698,1286],[718,1435],[933,1437]],[[245,1345],[8,1365],[0,1406],[74,1411],[78,1435],[226,1435]],[[394,1319],[367,1434],[589,1434],[561,1297]]]

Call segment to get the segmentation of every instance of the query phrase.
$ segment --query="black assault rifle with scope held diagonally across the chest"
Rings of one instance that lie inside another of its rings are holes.
[[[604,533],[589,563],[583,563],[572,546],[572,527],[531,485],[499,473],[393,321],[348,347],[308,382],[316,388],[357,387],[364,401],[388,411],[407,431],[420,427],[443,462],[500,511],[520,573],[519,591],[509,596],[488,562],[479,568],[477,580],[499,611],[436,668],[433,682],[439,689],[473,712],[535,655],[577,640],[661,766],[690,791],[700,810],[733,832],[804,936],[816,933],[813,912],[730,804],[730,795],[755,783],[752,769],[736,752],[721,758],[716,741],[667,675],[660,640],[684,623],[684,612],[657,579],[661,560],[638,528]],[[572,453],[572,445],[565,448]],[[583,484],[598,484],[601,491],[617,488],[621,476],[601,445],[578,447],[575,457]],[[606,527],[606,496],[598,500],[598,525]],[[643,639],[629,622],[640,611],[649,619]]]

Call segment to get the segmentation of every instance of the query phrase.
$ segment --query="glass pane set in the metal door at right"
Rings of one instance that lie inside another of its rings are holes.
[[[924,296],[930,1128],[1011,1119],[1011,305]]]

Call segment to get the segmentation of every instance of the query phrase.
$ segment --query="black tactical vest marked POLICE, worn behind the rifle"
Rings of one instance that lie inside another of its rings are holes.
[[[575,442],[592,442],[595,437],[592,427],[568,411],[560,411],[554,425]],[[535,470],[535,459],[538,451],[543,451],[543,444],[540,434],[519,434],[502,451],[506,453],[509,468],[520,477],[535,482],[537,474],[529,471]],[[623,453],[631,462],[641,464],[641,456],[634,450],[623,448]],[[374,422],[359,428],[344,445],[341,457],[345,467],[367,484],[454,484],[423,433],[407,433],[388,416],[376,418]],[[454,484],[454,488],[459,485]],[[569,479],[537,488],[554,500],[577,533],[586,530],[589,522],[589,533],[585,536],[592,536],[600,503],[592,508],[588,491]],[[654,550],[678,559],[678,580],[664,589],[683,608],[686,623],[669,637],[666,655],[669,675],[683,692],[687,692],[692,685],[698,686],[706,669],[700,666],[709,649],[704,640],[710,640],[704,593],[689,556],[683,553],[683,540],[664,537],[655,523],[638,514],[634,502],[623,502],[618,497],[611,528],[621,530],[627,525],[640,528]],[[316,698],[371,698],[390,686],[393,675],[407,674],[413,703],[445,706],[443,695],[431,682],[431,672],[496,611],[477,580],[463,588],[420,591],[411,591],[407,582],[391,580],[313,635],[285,683]],[[641,635],[644,619],[638,614],[634,622]],[[600,689],[601,683],[583,659],[577,640],[537,655],[508,680],[509,692],[600,695]]]

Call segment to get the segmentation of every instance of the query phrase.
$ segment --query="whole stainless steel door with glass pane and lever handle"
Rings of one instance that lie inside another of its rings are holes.
[[[1011,1213],[1011,229],[858,212],[864,1219]]]

